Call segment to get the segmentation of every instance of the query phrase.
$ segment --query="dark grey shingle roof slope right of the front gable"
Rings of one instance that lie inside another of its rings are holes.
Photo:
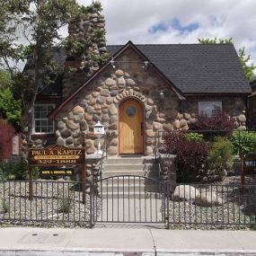
[[[136,45],[182,93],[251,93],[233,44]],[[121,45],[110,45],[111,54]]]

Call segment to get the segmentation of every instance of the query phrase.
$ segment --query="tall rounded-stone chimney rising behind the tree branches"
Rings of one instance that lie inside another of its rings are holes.
[[[95,11],[93,4],[85,7],[80,17],[68,26],[66,73],[62,91],[64,98],[81,86],[110,57],[106,48],[105,19],[100,10]]]

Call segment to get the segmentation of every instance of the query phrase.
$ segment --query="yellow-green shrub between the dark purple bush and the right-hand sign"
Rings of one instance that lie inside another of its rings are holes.
[[[225,172],[233,167],[233,146],[225,137],[216,137],[216,142],[210,146],[207,154],[207,165],[209,169],[215,170],[216,175],[222,180]]]

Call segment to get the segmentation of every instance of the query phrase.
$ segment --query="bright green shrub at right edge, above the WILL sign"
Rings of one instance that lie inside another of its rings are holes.
[[[234,131],[231,137],[231,142],[234,146],[234,154],[256,152],[256,132],[255,131]]]

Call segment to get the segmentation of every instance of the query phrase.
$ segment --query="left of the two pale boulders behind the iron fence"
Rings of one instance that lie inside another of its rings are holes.
[[[190,185],[177,186],[172,194],[173,201],[189,201],[196,199],[199,190]]]

